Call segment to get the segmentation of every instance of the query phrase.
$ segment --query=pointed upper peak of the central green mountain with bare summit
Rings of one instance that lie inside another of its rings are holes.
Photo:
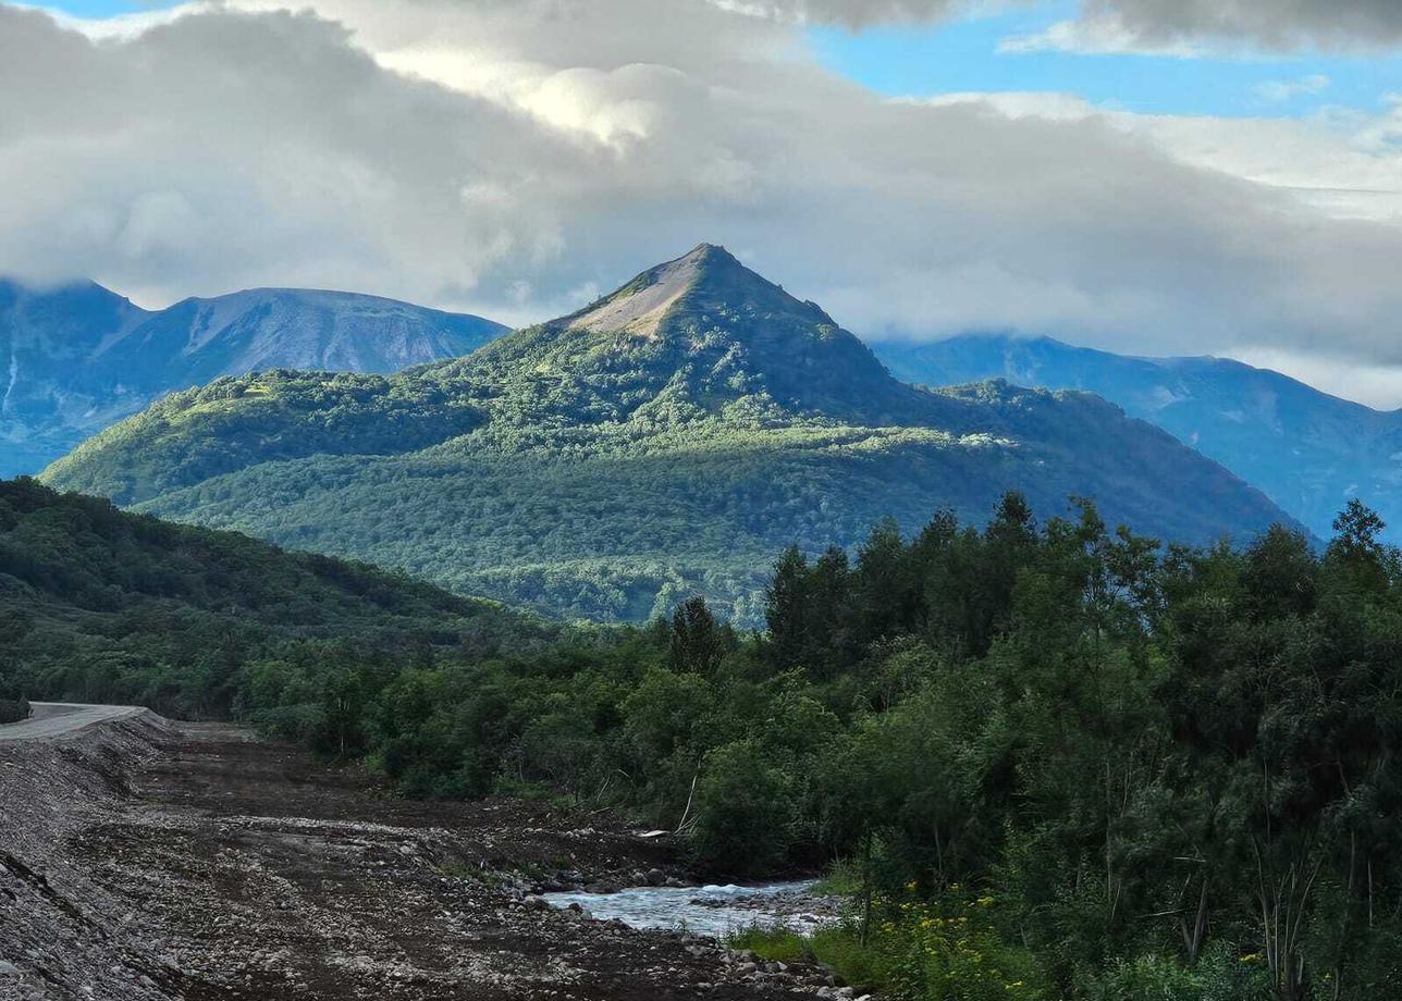
[[[568,373],[573,391],[592,400],[585,409],[611,421],[639,411],[648,419],[718,414],[746,401],[746,412],[775,407],[876,423],[939,405],[892,379],[822,308],[707,243],[463,366],[492,380],[541,373],[547,390]]]

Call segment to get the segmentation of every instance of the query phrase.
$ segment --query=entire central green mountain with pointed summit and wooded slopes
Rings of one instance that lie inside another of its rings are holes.
[[[813,303],[719,247],[568,317],[394,376],[271,372],[163,400],[49,467],[55,486],[355,555],[465,593],[642,620],[700,592],[761,617],[789,543],[890,515],[1042,516],[1207,543],[1288,520],[1157,428],[1081,393],[893,379]]]

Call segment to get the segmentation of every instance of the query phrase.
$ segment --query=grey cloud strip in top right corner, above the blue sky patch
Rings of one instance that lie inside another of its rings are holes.
[[[1080,15],[1008,39],[1007,52],[1384,50],[1402,45],[1396,0],[1082,0]]]

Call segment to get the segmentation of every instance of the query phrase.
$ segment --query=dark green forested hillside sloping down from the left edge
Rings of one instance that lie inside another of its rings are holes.
[[[308,702],[322,693],[287,681],[317,644],[491,656],[559,632],[372,566],[0,481],[0,690],[227,716],[254,656],[289,658],[283,681],[262,680],[265,700],[280,684],[289,702]]]

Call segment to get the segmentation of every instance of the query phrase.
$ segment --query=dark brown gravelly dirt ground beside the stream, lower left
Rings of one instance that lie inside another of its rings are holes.
[[[822,970],[527,896],[632,883],[666,852],[607,817],[393,801],[229,726],[0,744],[0,1001],[837,994]]]

